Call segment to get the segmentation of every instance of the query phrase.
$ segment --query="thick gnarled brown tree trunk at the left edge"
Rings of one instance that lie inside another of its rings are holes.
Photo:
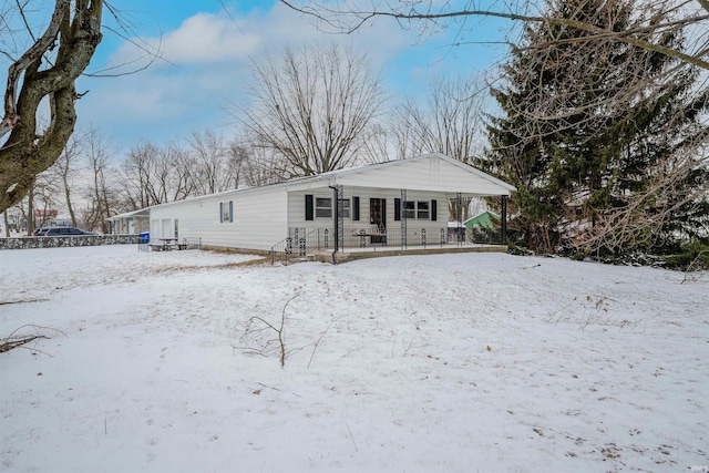
[[[4,116],[0,137],[0,212],[20,202],[35,175],[60,156],[74,131],[74,81],[89,65],[101,42],[103,0],[55,0],[42,32],[25,17],[30,2],[3,2],[0,33],[2,55],[10,58]],[[11,18],[12,17],[12,18]],[[11,25],[24,24],[24,37]],[[17,44],[31,45],[17,50]],[[50,122],[38,123],[40,103],[48,99]]]

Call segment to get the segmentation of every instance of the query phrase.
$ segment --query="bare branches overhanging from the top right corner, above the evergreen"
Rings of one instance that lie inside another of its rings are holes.
[[[636,10],[644,13],[647,21],[639,28],[634,24],[624,30],[604,29],[590,22],[553,17],[548,14],[546,2],[528,0],[496,1],[489,8],[471,1],[458,3],[436,0],[371,2],[368,7],[359,7],[351,0],[280,1],[310,16],[320,29],[331,32],[351,33],[378,19],[390,19],[401,28],[415,27],[424,37],[453,29],[456,41],[452,47],[464,47],[466,42],[460,38],[464,33],[475,32],[481,21],[504,19],[515,23],[575,28],[587,33],[583,41],[618,41],[675,58],[686,65],[709,70],[709,0],[644,0],[637,3]],[[689,50],[664,44],[664,35],[689,29],[693,32]]]

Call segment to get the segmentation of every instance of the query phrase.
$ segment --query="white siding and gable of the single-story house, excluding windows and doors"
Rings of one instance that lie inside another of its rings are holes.
[[[161,220],[179,219],[181,238],[202,238],[204,246],[269,250],[282,241],[291,228],[335,229],[336,202],[330,187],[333,185],[343,188],[346,227],[370,224],[370,199],[376,198],[386,199],[387,228],[400,228],[401,222],[394,220],[394,205],[402,197],[401,189],[405,189],[405,199],[417,203],[415,218],[407,219],[409,236],[413,238],[423,228],[429,235],[440,228],[446,230],[448,203],[459,193],[500,196],[510,195],[513,189],[477,169],[432,154],[152,207],[151,237],[160,237]],[[352,197],[359,202],[357,220],[351,219]],[[433,200],[436,202],[435,220],[432,219]],[[224,225],[220,223],[225,219],[224,203],[229,202],[233,222]]]

